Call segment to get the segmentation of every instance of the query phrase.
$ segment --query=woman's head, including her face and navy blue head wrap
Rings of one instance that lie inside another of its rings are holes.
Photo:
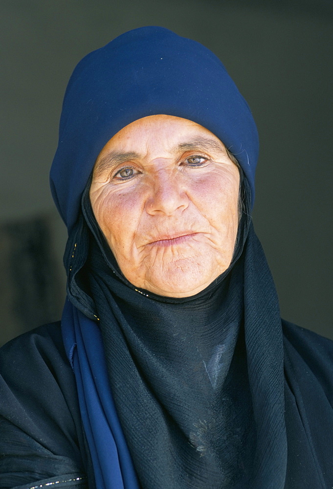
[[[93,212],[125,277],[137,288],[189,296],[232,258],[239,172],[230,154],[253,203],[258,135],[234,82],[201,44],[142,27],[75,68],[52,194],[73,240],[93,169]]]

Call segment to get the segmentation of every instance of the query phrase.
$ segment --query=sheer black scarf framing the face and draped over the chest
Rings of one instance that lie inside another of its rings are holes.
[[[281,321],[250,221],[246,179],[230,267],[183,299],[136,290],[122,276],[88,189],[89,182],[83,197],[89,237],[81,222],[69,240],[67,256],[75,242],[76,261],[68,260],[68,294],[85,313],[93,304],[90,317],[99,318],[115,404],[142,487],[283,487]]]

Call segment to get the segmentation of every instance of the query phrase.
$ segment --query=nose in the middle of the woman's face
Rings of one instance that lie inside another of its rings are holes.
[[[151,181],[150,195],[146,201],[148,214],[171,216],[176,210],[186,209],[189,199],[181,185],[181,176],[177,173],[167,170],[155,172]]]

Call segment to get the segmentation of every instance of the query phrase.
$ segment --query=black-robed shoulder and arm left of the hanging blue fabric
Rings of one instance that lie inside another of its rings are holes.
[[[0,349],[0,453],[0,487],[84,477],[86,441],[60,322]]]

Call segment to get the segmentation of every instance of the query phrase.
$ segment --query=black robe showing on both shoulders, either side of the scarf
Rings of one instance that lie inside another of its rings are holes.
[[[283,332],[285,489],[327,489],[333,486],[333,342],[286,321]],[[65,480],[59,489],[94,489],[60,323],[7,343],[0,371],[0,488]]]

